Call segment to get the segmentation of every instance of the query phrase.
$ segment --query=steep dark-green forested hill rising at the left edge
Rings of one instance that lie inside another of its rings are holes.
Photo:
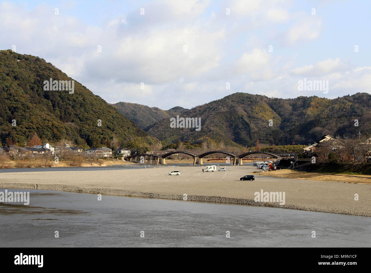
[[[151,137],[79,82],[74,93],[45,91],[44,81],[73,80],[44,59],[11,50],[0,51],[1,143],[9,137],[23,144],[33,133],[42,141],[69,139],[78,145],[107,145],[113,136],[120,143],[149,143]],[[16,121],[14,124],[13,120]],[[101,125],[98,126],[98,120]],[[12,126],[16,125],[16,126]]]

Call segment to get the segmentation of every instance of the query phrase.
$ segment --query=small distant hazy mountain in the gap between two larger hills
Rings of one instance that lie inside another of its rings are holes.
[[[161,110],[157,107],[148,107],[142,104],[124,102],[112,105],[117,107],[117,110],[125,117],[134,121],[140,129],[144,129],[164,118],[181,115],[184,111],[189,110],[180,106],[175,106],[169,110]]]

